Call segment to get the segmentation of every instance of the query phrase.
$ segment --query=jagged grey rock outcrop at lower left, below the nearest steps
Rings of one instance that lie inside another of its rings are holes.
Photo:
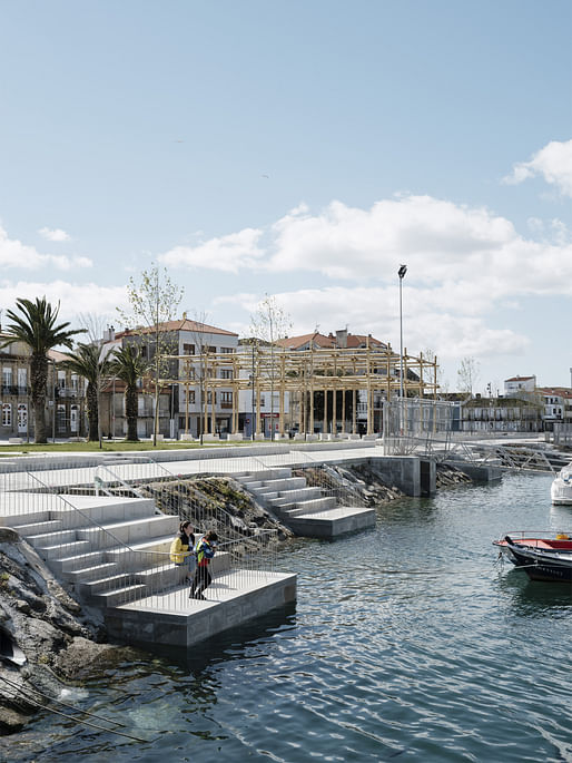
[[[103,638],[98,613],[82,612],[33,548],[0,527],[0,734],[20,731],[67,679],[125,653]]]

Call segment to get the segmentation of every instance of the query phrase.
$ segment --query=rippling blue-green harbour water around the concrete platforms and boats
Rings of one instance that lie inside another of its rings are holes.
[[[146,741],[45,715],[0,756],[570,762],[572,587],[501,571],[491,545],[506,530],[572,531],[550,482],[506,476],[394,501],[372,531],[297,540],[280,558],[299,575],[295,607],[72,693]]]

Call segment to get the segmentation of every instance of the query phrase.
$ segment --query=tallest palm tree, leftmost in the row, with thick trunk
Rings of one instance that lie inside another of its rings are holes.
[[[47,302],[46,296],[36,302],[18,299],[17,307],[21,315],[12,310],[7,311],[7,316],[12,321],[7,326],[8,339],[2,348],[23,342],[30,348],[30,387],[33,409],[34,442],[48,442],[46,430],[46,382],[48,380],[48,351],[63,345],[71,350],[71,338],[82,333],[83,329],[69,330],[69,322],[56,324],[60,305],[56,309]],[[56,402],[56,401],[55,401]]]

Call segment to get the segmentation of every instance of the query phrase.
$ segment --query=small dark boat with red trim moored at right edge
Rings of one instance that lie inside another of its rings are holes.
[[[509,532],[493,545],[531,580],[572,583],[572,536],[566,532]]]

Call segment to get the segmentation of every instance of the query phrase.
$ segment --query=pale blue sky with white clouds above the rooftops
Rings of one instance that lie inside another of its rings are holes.
[[[571,385],[570,0],[0,0],[0,321],[347,327]],[[402,282],[397,271],[407,265]]]

